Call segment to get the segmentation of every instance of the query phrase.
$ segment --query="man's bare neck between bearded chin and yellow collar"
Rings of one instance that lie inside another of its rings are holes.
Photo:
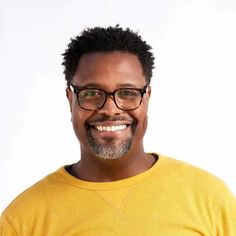
[[[102,160],[81,152],[81,160],[73,165],[71,174],[76,178],[92,182],[110,182],[129,178],[148,170],[155,158],[143,149],[129,153],[120,159]]]

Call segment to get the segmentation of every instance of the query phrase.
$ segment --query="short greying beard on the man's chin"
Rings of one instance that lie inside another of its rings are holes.
[[[124,156],[131,147],[133,137],[124,140],[122,143],[116,144],[113,138],[106,139],[107,143],[99,144],[92,136],[90,129],[87,130],[87,138],[94,154],[103,160],[115,160]]]

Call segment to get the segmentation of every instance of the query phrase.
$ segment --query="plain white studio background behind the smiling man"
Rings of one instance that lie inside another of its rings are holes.
[[[153,47],[147,151],[219,176],[236,193],[236,1],[0,1],[0,212],[79,159],[61,53],[85,27],[130,27]]]

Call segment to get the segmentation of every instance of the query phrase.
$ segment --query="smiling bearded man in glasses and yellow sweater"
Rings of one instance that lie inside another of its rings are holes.
[[[150,50],[119,26],[71,40],[63,65],[80,161],[18,196],[1,235],[236,235],[236,200],[221,180],[144,151]]]

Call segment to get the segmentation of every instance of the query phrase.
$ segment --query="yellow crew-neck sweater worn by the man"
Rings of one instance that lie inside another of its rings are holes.
[[[144,173],[87,182],[64,167],[3,212],[1,236],[236,236],[236,199],[213,175],[160,156]]]

